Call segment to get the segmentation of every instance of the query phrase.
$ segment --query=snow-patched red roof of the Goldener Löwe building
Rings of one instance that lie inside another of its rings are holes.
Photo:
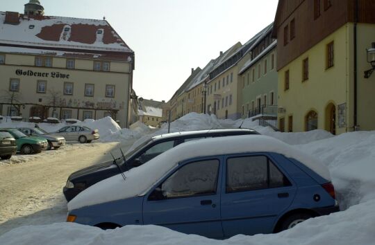
[[[133,53],[105,20],[20,15],[6,24],[0,12],[0,43],[49,48],[74,48]]]

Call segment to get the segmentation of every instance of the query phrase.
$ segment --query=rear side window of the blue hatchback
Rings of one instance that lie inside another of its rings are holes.
[[[267,156],[228,158],[226,169],[227,193],[292,185]]]

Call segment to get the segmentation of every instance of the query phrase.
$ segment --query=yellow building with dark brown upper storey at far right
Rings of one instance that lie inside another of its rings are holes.
[[[365,0],[279,1],[281,131],[375,129],[375,77],[363,75],[372,68],[366,49],[375,42],[374,10]]]

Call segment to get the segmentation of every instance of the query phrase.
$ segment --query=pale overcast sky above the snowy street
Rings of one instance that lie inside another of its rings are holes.
[[[28,0],[1,1],[24,12]],[[169,100],[194,67],[274,21],[277,0],[40,0],[44,15],[107,21],[135,52],[138,96]]]

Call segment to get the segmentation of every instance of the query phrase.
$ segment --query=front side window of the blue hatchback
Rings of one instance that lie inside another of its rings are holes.
[[[197,194],[215,194],[219,160],[188,163],[178,169],[161,185],[165,198],[189,197]]]

